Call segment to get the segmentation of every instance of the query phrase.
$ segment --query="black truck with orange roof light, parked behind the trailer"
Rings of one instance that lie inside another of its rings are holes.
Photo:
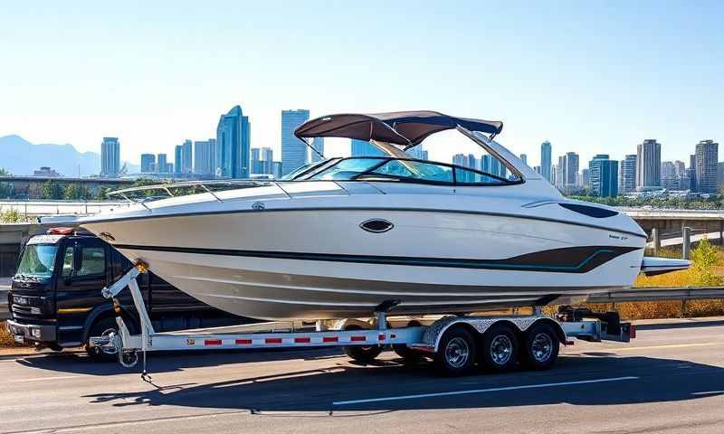
[[[90,336],[115,331],[116,316],[138,327],[128,291],[117,298],[117,307],[100,294],[131,266],[118,250],[90,233],[56,228],[32,237],[8,294],[8,329],[18,342],[55,351],[84,345],[94,359],[115,358],[88,343]],[[153,273],[140,277],[138,285],[158,331],[251,322],[205,305]]]

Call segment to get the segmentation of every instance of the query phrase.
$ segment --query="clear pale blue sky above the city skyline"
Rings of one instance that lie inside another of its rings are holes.
[[[688,161],[724,143],[722,18],[704,0],[3,2],[0,136],[96,152],[119,137],[138,163],[215,137],[236,104],[275,153],[282,109],[433,109],[502,120],[530,165],[543,140],[582,165],[645,138]]]

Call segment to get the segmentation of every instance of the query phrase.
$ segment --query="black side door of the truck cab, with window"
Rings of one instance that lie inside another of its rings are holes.
[[[106,286],[106,248],[98,239],[77,239],[64,243],[61,276],[57,279],[55,301],[58,314],[58,342],[81,344],[85,319],[106,300],[100,290]]]

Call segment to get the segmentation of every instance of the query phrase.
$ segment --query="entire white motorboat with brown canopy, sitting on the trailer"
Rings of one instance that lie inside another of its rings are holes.
[[[481,146],[494,170],[407,153],[445,130]],[[383,156],[323,159],[276,181],[159,185],[167,198],[79,223],[193,297],[264,320],[464,314],[631,287],[646,269],[643,230],[564,197],[494,140],[501,130],[433,111],[324,116],[295,130],[313,151],[313,137],[346,137]]]

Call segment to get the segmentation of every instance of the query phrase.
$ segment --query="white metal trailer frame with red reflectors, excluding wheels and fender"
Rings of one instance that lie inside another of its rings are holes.
[[[90,345],[112,348],[118,352],[119,363],[126,367],[137,364],[138,353],[142,354],[142,377],[147,381],[149,377],[146,354],[149,351],[336,346],[381,348],[383,345],[391,344],[395,348],[406,347],[415,354],[424,354],[434,358],[441,353],[440,345],[446,333],[459,328],[466,329],[466,333],[481,337],[486,335],[486,332],[492,328],[508,327],[510,332],[523,335],[531,327],[547,325],[550,327],[549,330],[555,331],[557,344],[564,345],[573,344],[573,341],[569,339],[572,337],[590,342],[604,340],[628,342],[635,337],[633,325],[621,323],[617,313],[598,314],[587,309],[574,309],[572,307],[562,307],[556,317],[542,315],[540,307],[534,307],[532,315],[442,316],[437,319],[426,320],[428,325],[423,325],[420,318],[405,319],[403,317],[402,324],[408,321],[406,325],[390,328],[391,324],[400,323],[399,319],[395,321],[394,317],[388,316],[389,312],[394,310],[398,303],[395,300],[387,300],[379,305],[376,308],[374,318],[367,318],[366,320],[342,319],[331,326],[323,321],[316,321],[314,328],[311,330],[309,323],[308,326],[304,327],[304,323],[300,322],[277,321],[157,333],[151,324],[136,281],[141,273],[147,271],[148,265],[138,261],[133,268],[129,269],[110,287],[102,289],[103,297],[112,298],[114,306],[117,307],[118,316],[116,316],[116,322],[119,326],[119,333],[90,337]],[[138,311],[139,335],[129,333],[129,327],[120,315],[120,308],[116,302],[115,297],[127,287]],[[302,329],[300,329],[300,326]],[[445,351],[449,350],[445,349]]]

